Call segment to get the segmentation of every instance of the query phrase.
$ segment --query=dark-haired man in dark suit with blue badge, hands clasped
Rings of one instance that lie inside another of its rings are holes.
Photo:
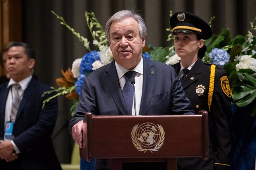
[[[33,76],[35,52],[30,45],[13,43],[6,69],[10,81],[0,86],[0,169],[61,169],[51,134],[58,115],[58,101],[42,108],[50,86]],[[17,87],[17,88],[16,88]]]

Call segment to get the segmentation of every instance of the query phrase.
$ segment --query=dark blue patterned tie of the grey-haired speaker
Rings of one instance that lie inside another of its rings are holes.
[[[134,77],[135,74],[136,74],[135,71],[128,71],[124,74],[125,85],[122,93],[124,96],[126,107],[130,115],[132,114],[132,103],[133,103],[133,94],[134,94],[133,85],[131,84],[131,78]]]

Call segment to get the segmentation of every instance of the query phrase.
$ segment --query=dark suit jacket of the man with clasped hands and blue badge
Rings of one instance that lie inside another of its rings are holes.
[[[4,136],[4,112],[9,88],[7,83],[0,86],[0,140]],[[20,150],[19,158],[12,163],[19,163],[24,170],[31,169],[61,169],[53,148],[51,135],[58,115],[58,101],[56,98],[46,103],[42,108],[43,101],[49,98],[45,91],[50,86],[32,78],[24,91],[22,101],[14,123],[13,140]],[[8,163],[0,160],[0,167]]]

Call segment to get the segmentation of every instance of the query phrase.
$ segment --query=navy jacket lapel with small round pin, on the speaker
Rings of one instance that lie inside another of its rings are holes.
[[[150,60],[143,58],[143,85],[139,113],[140,115],[147,114],[150,101],[153,96],[155,87],[155,75],[157,73],[157,69],[153,66],[154,64]]]

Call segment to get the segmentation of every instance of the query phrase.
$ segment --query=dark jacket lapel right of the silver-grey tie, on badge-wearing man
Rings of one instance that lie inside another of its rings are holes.
[[[36,83],[36,80],[32,77],[31,81],[29,82],[29,84],[27,85],[27,88],[24,91],[22,101],[20,101],[20,105],[19,105],[19,109],[18,109],[15,121],[20,116],[20,114],[21,114],[24,106],[26,105],[27,101],[29,101],[29,99],[31,98],[32,92],[35,89],[35,85],[36,85],[35,83]]]

